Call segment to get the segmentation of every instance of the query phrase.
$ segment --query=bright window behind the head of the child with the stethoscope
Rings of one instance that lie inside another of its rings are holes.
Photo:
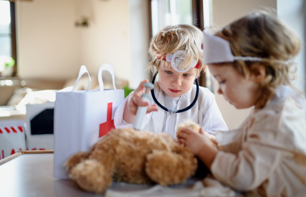
[[[151,36],[166,25],[193,24],[200,30],[212,26],[212,0],[151,0]],[[199,85],[213,91],[213,78],[207,71]]]

